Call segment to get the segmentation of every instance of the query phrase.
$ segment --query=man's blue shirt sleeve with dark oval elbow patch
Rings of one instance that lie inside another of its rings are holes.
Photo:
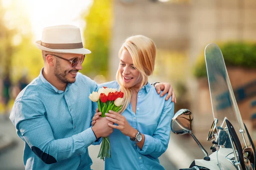
[[[54,139],[44,113],[45,108],[40,99],[36,101],[22,97],[15,101],[10,119],[18,135],[46,164],[86,153],[87,147],[96,140],[91,128],[68,138]]]

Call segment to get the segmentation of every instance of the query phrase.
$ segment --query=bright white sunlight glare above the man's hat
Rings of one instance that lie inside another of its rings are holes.
[[[24,0],[25,1],[25,0]],[[81,14],[89,10],[93,0],[26,0],[27,12],[35,40],[41,39],[44,27],[71,24],[82,29],[85,26]]]

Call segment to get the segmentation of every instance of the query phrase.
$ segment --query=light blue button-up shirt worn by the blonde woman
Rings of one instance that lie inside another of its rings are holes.
[[[104,83],[99,88],[117,88],[116,81]],[[174,115],[174,103],[160,97],[149,83],[143,86],[137,95],[136,113],[131,103],[122,113],[134,129],[145,136],[142,150],[125,136],[120,130],[114,129],[109,136],[111,142],[111,158],[105,159],[105,170],[164,170],[160,165],[160,157],[167,149],[171,120]]]

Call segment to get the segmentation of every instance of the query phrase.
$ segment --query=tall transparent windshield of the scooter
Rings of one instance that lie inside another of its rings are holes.
[[[205,61],[207,66],[208,82],[212,102],[213,117],[218,119],[218,125],[222,128],[226,126],[226,119],[233,125],[234,130],[241,143],[242,150],[252,147],[248,134],[245,130],[239,108],[230,84],[224,59],[218,45],[210,43],[205,48]],[[225,143],[224,136],[217,130],[218,142],[221,147],[231,148],[230,144]],[[244,137],[243,137],[244,136]],[[222,143],[221,143],[222,142]],[[228,141],[226,141],[228,142]]]

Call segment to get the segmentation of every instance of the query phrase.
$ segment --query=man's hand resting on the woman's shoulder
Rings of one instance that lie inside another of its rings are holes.
[[[156,83],[155,84],[155,88],[156,88],[156,91],[157,91],[157,94],[160,94],[161,91],[162,94],[161,94],[161,97],[163,97],[166,93],[167,96],[166,96],[166,100],[168,100],[170,98],[170,96],[172,96],[172,102],[176,103],[176,97],[175,97],[175,93],[172,89],[172,85],[170,83]]]

